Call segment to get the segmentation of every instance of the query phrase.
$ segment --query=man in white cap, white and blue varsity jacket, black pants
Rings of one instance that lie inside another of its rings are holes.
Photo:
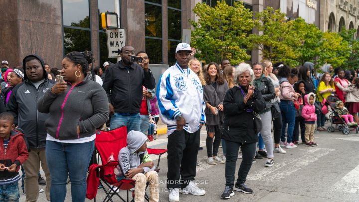
[[[190,45],[179,43],[175,53],[176,64],[162,74],[156,90],[160,117],[167,125],[166,187],[170,202],[179,202],[179,191],[197,196],[206,193],[194,183],[200,129],[206,122],[203,87],[197,74],[188,68]]]

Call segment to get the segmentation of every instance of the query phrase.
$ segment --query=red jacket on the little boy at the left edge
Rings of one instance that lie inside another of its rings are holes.
[[[6,167],[16,164],[16,172],[10,173],[8,171],[0,172],[0,180],[16,176],[20,169],[20,165],[28,158],[28,151],[24,140],[24,134],[18,131],[11,131],[10,141],[7,149],[3,146],[3,138],[0,138],[0,163],[5,164]]]

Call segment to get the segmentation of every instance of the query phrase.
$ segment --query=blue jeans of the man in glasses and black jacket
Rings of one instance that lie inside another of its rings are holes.
[[[140,125],[141,125],[140,113],[123,116],[115,112],[115,114],[111,117],[110,129],[112,130],[121,126],[126,126],[127,132],[141,131]]]

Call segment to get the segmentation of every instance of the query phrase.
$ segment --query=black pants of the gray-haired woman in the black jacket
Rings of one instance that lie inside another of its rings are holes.
[[[225,177],[226,185],[233,188],[234,186],[234,173],[235,166],[238,158],[238,150],[241,147],[242,150],[242,163],[238,170],[238,179],[237,184],[242,184],[246,181],[247,175],[253,163],[253,157],[255,155],[255,150],[257,143],[238,143],[232,141],[226,141],[226,165],[225,165]]]

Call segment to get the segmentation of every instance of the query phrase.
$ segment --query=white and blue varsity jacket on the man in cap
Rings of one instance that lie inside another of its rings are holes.
[[[189,68],[182,69],[176,62],[160,77],[156,90],[160,117],[167,125],[167,135],[176,130],[176,117],[182,114],[186,120],[184,130],[194,133],[199,124],[206,122],[203,87]]]

